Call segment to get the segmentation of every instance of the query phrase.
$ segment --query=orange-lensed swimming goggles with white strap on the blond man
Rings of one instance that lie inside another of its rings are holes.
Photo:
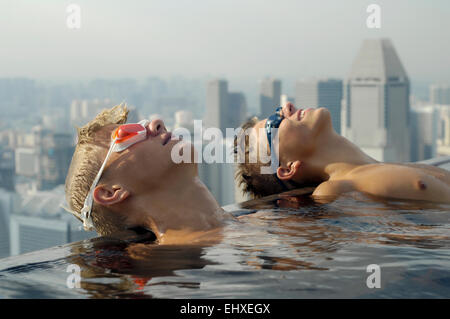
[[[106,163],[112,153],[118,153],[126,150],[130,146],[141,142],[147,138],[147,126],[150,123],[148,120],[140,121],[139,123],[123,124],[116,128],[111,134],[111,144],[109,146],[108,153],[106,154],[105,160],[103,161],[100,170],[95,176],[92,182],[89,193],[84,200],[84,206],[81,209],[81,219],[83,221],[84,230],[90,231],[94,230],[94,223],[92,222],[92,206],[94,203],[94,190],[102,176],[105,169]]]

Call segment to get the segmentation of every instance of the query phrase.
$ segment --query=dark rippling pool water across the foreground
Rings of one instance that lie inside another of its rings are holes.
[[[449,297],[450,205],[290,193],[235,206],[216,243],[116,236],[16,257],[0,295],[82,298]],[[379,264],[380,290],[366,266]],[[1,263],[0,263],[1,264]],[[66,287],[69,264],[81,289]],[[41,279],[39,285],[33,283]],[[42,282],[45,284],[42,285]]]

